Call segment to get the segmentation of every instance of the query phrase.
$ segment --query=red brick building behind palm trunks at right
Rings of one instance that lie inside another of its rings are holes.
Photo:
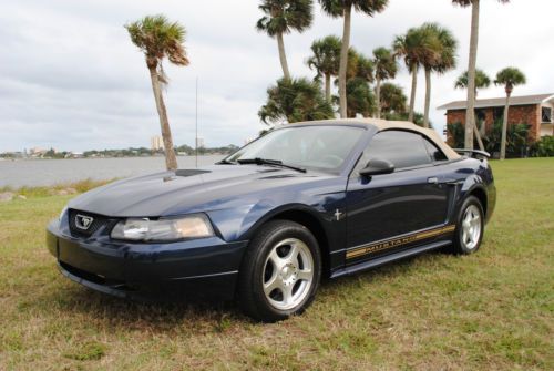
[[[466,101],[450,102],[438,110],[447,111],[447,124],[461,123],[465,125]],[[478,122],[484,122],[481,134],[492,130],[496,120],[504,116],[506,99],[486,99],[475,101],[475,116]],[[527,124],[530,141],[538,141],[541,136],[554,134],[554,94],[512,96],[507,124]]]

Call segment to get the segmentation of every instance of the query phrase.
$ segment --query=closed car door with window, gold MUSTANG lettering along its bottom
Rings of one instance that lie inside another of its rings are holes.
[[[347,265],[424,243],[447,219],[449,187],[437,174],[424,137],[408,131],[377,133],[347,188]],[[361,176],[369,159],[387,159],[390,174]]]

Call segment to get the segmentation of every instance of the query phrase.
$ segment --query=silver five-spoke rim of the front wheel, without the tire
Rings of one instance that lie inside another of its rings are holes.
[[[278,310],[300,305],[314,281],[314,257],[297,238],[279,241],[264,265],[263,287],[269,303]]]

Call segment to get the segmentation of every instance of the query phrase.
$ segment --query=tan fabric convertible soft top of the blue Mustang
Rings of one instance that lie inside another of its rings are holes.
[[[456,159],[461,156],[452,150],[444,141],[437,134],[437,132],[432,128],[425,128],[412,124],[408,121],[387,121],[379,118],[336,118],[336,120],[322,120],[322,121],[309,121],[302,123],[295,124],[358,124],[358,125],[370,125],[377,127],[378,131],[390,130],[390,128],[400,128],[410,132],[417,132],[424,135],[428,140],[433,142],[439,148],[442,150],[444,155],[449,159]]]

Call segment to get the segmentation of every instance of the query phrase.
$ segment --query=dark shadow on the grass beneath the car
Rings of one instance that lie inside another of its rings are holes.
[[[443,255],[440,250],[397,261],[336,280],[324,279],[317,300],[335,300],[341,288],[360,279],[372,280],[382,275],[409,275],[416,261]],[[28,306],[85,317],[99,327],[109,324],[114,330],[148,330],[166,333],[175,327],[186,327],[189,332],[222,332],[228,323],[253,324],[256,321],[242,313],[236,300],[222,301],[216,297],[199,297],[195,292],[182,292],[179,298],[162,298],[161,301],[137,301],[109,296],[82,287],[59,277],[54,285],[34,297]],[[175,300],[176,299],[176,300]],[[53,308],[52,308],[53,307]]]

